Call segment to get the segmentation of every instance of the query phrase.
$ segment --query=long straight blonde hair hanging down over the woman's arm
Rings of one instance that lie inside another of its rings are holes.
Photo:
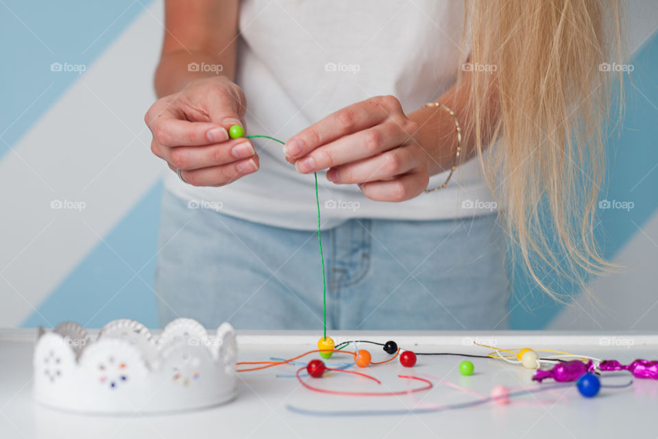
[[[587,291],[589,276],[617,268],[600,254],[594,222],[611,82],[622,79],[602,67],[622,62],[619,2],[467,0],[465,20],[470,62],[496,66],[472,75],[466,125],[487,156],[512,256],[556,300],[567,295],[541,278],[547,268]],[[619,93],[621,117],[621,84]]]

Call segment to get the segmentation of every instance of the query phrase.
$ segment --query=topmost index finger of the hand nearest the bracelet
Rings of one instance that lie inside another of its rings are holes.
[[[286,142],[286,155],[293,158],[302,157],[321,145],[375,126],[389,117],[392,106],[400,106],[398,99],[379,96],[342,108],[295,134]]]

